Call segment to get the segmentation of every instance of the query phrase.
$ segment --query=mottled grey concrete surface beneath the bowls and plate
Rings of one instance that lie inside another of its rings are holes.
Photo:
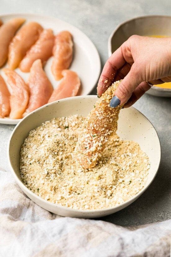
[[[170,0],[0,0],[0,14],[43,14],[78,27],[97,47],[102,67],[108,58],[108,37],[120,22],[143,15],[170,15],[170,10]],[[92,94],[96,94],[96,88]],[[140,198],[124,210],[102,218],[121,226],[143,225],[171,218],[171,98],[146,94],[134,107],[155,126],[161,142],[162,159],[154,182]],[[0,124],[0,167],[7,170],[6,149],[13,128]]]

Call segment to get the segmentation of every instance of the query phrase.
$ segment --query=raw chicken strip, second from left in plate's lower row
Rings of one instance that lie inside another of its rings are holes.
[[[12,89],[10,118],[21,119],[29,101],[29,87],[15,71],[7,68],[4,68],[3,71],[7,75],[7,83]]]

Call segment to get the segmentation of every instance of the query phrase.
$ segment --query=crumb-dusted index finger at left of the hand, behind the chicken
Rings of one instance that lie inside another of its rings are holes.
[[[107,88],[113,83],[113,80],[120,69],[125,64],[122,54],[122,46],[120,46],[106,61],[97,86],[97,94],[101,96]]]

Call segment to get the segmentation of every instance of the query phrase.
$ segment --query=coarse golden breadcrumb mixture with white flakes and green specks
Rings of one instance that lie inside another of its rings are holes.
[[[109,138],[98,164],[83,169],[74,149],[85,117],[53,118],[30,131],[21,146],[20,171],[25,186],[62,206],[104,209],[127,201],[145,185],[150,162],[133,141]]]

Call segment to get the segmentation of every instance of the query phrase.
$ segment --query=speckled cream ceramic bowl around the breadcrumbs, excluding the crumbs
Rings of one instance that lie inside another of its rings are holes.
[[[8,146],[8,160],[12,174],[16,182],[39,206],[61,216],[95,218],[102,217],[117,212],[134,202],[150,185],[155,178],[159,168],[161,158],[161,147],[157,132],[150,121],[138,110],[133,107],[122,109],[118,121],[118,135],[124,140],[134,140],[139,143],[141,149],[146,152],[150,158],[150,170],[145,187],[128,201],[113,208],[104,210],[74,210],[69,207],[62,207],[50,203],[33,192],[31,192],[21,181],[19,159],[20,148],[30,130],[41,125],[42,122],[53,117],[63,117],[73,114],[86,116],[97,101],[97,96],[78,96],[62,99],[40,107],[22,119],[12,132]]]

